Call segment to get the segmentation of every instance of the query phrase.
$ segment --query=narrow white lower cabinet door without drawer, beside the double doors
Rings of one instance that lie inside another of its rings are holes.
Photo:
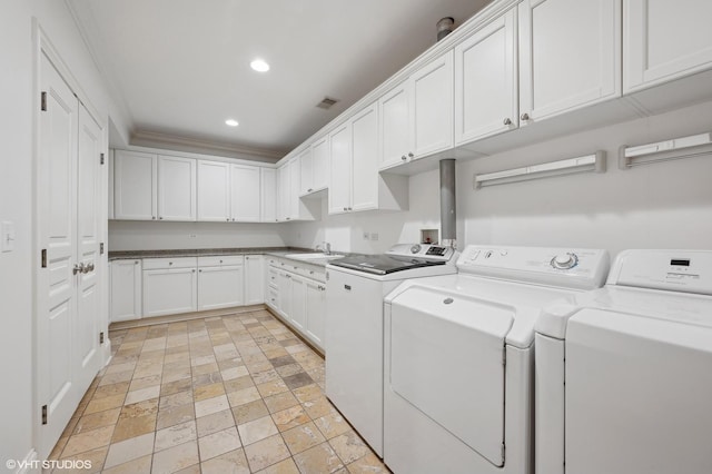
[[[109,320],[140,319],[141,260],[113,260],[109,267]]]

